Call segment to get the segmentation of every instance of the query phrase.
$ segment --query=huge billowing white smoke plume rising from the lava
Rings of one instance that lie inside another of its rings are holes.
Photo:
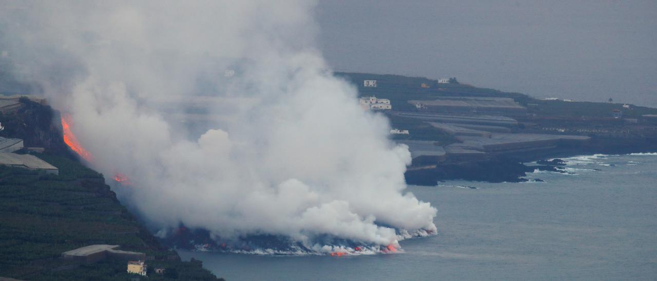
[[[17,76],[70,114],[89,165],[129,178],[116,191],[160,234],[330,252],[436,232],[436,209],[404,192],[407,147],[313,46],[313,1],[0,5]]]

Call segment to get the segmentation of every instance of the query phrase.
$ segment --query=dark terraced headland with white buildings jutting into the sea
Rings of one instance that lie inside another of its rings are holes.
[[[409,146],[409,184],[518,182],[526,165],[583,154],[657,151],[657,108],[635,104],[533,98],[459,83],[396,75],[338,73],[361,98],[390,102],[391,138]],[[403,133],[400,133],[403,132]]]

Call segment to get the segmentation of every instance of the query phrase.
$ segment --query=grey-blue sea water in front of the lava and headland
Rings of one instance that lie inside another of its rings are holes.
[[[439,234],[403,253],[181,256],[227,280],[655,280],[657,154],[566,161],[567,174],[528,177],[544,183],[409,186],[438,208]]]

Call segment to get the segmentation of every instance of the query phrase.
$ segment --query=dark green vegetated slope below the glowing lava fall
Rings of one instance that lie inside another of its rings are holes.
[[[46,175],[0,166],[0,276],[30,280],[130,280],[125,261],[80,265],[60,259],[64,251],[91,244],[118,244],[147,253],[142,280],[217,280],[199,262],[181,262],[160,246],[116,200],[102,175],[79,162],[51,154],[37,156],[59,168]],[[174,258],[171,259],[171,256]]]

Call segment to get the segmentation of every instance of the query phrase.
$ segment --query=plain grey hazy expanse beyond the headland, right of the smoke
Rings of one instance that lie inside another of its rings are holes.
[[[657,1],[320,0],[336,70],[657,106]]]

